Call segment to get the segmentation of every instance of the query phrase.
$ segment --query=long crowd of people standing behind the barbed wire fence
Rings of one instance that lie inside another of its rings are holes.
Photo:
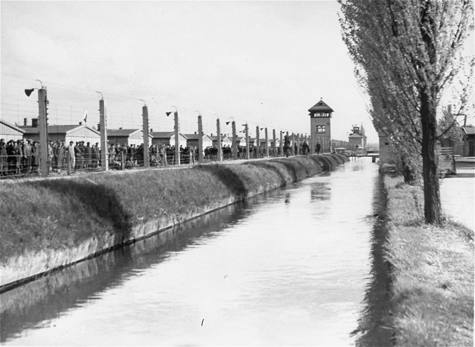
[[[40,168],[40,144],[39,141],[31,139],[9,140],[5,142],[0,139],[0,175],[22,175],[28,173],[38,173]],[[291,154],[290,140],[285,137],[283,145],[283,155],[288,157]],[[236,146],[237,158],[247,157],[246,146]],[[268,147],[269,156],[280,156],[281,149],[277,146]],[[316,153],[320,152],[320,144],[316,145]],[[144,163],[143,144],[127,145],[123,143],[111,143],[107,148],[110,169],[131,169],[142,167]],[[198,148],[194,146],[183,147],[180,145],[180,164],[194,164],[198,161]],[[265,146],[250,146],[249,158],[266,156]],[[310,147],[306,141],[294,144],[295,155],[309,154]],[[233,158],[233,149],[230,145],[225,145],[221,149],[222,159]],[[167,166],[178,164],[175,158],[175,146],[166,144],[155,144],[149,148],[150,166]],[[216,145],[203,149],[203,159],[215,161],[218,159],[218,147]],[[63,141],[49,140],[48,144],[48,170],[61,172],[61,170],[94,170],[101,166],[101,149],[98,142],[92,144],[85,141],[70,141],[69,144]]]

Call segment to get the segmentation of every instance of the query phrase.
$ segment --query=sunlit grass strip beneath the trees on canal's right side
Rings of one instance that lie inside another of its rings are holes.
[[[397,346],[473,346],[474,233],[424,224],[423,192],[384,178]]]

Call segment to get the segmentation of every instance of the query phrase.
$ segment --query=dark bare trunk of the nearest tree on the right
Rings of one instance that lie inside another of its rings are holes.
[[[424,217],[428,224],[440,224],[440,196],[436,142],[436,110],[428,89],[420,91],[422,125],[422,177],[424,179]]]

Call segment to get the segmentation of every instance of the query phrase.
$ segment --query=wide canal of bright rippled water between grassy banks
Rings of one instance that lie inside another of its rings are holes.
[[[378,165],[350,161],[10,290],[1,343],[354,345],[378,195]]]

